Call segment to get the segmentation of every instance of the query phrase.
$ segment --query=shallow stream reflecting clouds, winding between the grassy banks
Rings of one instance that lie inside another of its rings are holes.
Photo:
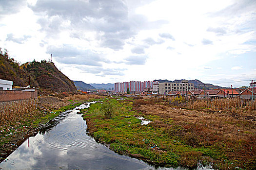
[[[109,150],[86,135],[86,122],[77,113],[79,109],[89,107],[90,103],[93,102],[63,112],[36,136],[25,140],[0,163],[0,169],[155,170],[143,161]]]

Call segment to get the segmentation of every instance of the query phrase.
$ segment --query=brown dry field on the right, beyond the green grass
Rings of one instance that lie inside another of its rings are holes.
[[[178,136],[194,148],[211,148],[223,153],[227,160],[237,162],[245,169],[256,166],[256,102],[239,99],[196,100],[185,98],[138,99],[134,108],[145,117],[158,118],[155,128],[166,133],[181,127],[172,136]],[[213,163],[223,170],[230,169],[225,160]],[[251,165],[252,167],[247,167]],[[225,167],[226,166],[226,167]],[[235,168],[235,167],[233,167]],[[232,168],[231,168],[232,169]]]

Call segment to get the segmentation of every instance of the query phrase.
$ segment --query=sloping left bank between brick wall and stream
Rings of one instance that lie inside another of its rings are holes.
[[[29,136],[38,132],[41,125],[57,117],[61,112],[97,95],[70,95],[65,97],[40,97],[38,100],[0,103],[0,162]]]

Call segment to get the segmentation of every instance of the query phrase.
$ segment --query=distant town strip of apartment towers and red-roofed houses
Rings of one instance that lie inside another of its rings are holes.
[[[170,95],[194,96],[198,98],[237,98],[255,99],[256,82],[250,83],[249,88],[216,88],[212,90],[195,88],[193,83],[182,80],[180,83],[158,81],[130,81],[115,83],[115,93],[129,93],[141,95]]]

